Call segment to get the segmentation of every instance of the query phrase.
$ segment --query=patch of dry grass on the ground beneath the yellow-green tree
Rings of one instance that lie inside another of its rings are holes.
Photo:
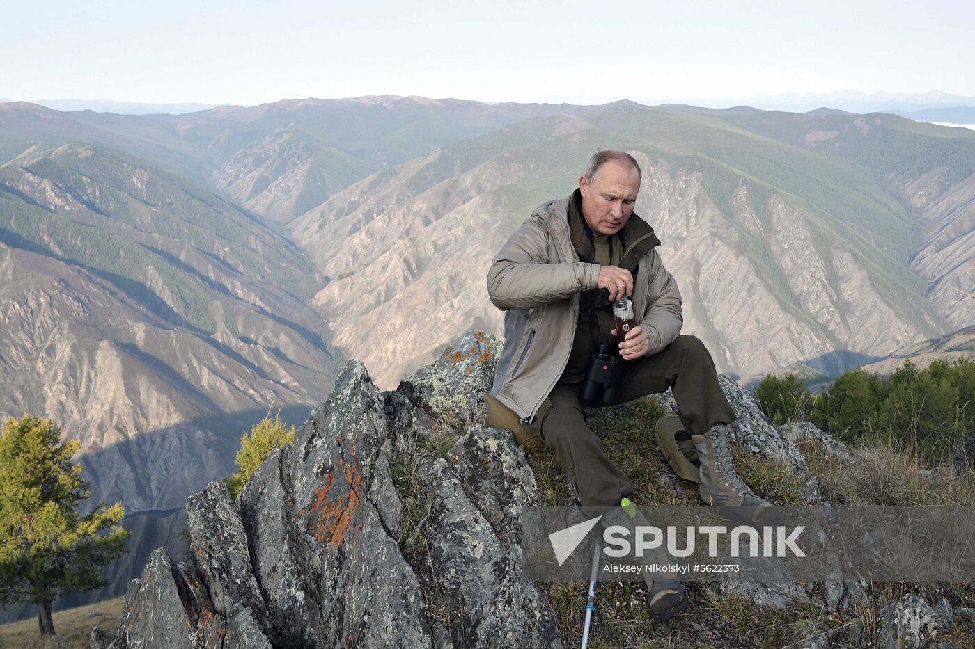
[[[119,625],[125,597],[106,599],[97,604],[69,608],[54,614],[55,630],[71,649],[87,649],[92,627],[112,633]],[[0,647],[46,646],[47,638],[37,631],[37,618],[0,626]]]

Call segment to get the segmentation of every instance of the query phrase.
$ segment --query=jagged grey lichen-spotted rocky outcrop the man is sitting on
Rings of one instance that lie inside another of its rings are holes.
[[[93,646],[562,647],[521,546],[522,514],[541,504],[535,475],[508,432],[483,424],[498,350],[468,333],[389,392],[347,363],[236,501],[221,482],[187,499],[190,557],[152,554],[119,629],[93,633]],[[812,478],[796,443],[721,380],[737,443]],[[819,431],[796,439],[833,443]],[[814,502],[815,480],[807,487]],[[837,608],[844,585],[830,588]],[[819,596],[775,583],[724,589],[777,608]]]

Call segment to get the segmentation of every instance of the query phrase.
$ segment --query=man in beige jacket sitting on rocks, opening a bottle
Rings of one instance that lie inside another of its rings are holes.
[[[506,313],[491,405],[510,409],[529,434],[544,439],[584,507],[619,506],[602,522],[632,525],[639,522],[633,484],[605,456],[583,412],[672,388],[700,460],[701,499],[741,507],[745,517],[764,522],[771,506],[734,472],[724,428],[734,412],[714,362],[700,340],[679,335],[681,293],[661,263],[653,229],[633,211],[641,179],[629,154],[596,153],[578,189],[535,210],[494,256],[487,292]],[[637,326],[618,344],[622,384],[609,402],[588,403],[579,395],[586,369],[597,344],[616,348],[611,301],[627,295]],[[658,620],[686,607],[680,584],[647,586]]]

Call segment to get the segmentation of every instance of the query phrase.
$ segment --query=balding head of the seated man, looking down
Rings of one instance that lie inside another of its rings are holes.
[[[633,213],[643,172],[623,151],[599,151],[579,176],[582,215],[598,237],[616,234]]]

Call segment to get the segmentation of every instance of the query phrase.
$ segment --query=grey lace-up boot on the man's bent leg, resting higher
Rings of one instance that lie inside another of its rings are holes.
[[[698,493],[701,500],[713,507],[727,508],[723,513],[744,523],[777,523],[778,508],[756,496],[735,472],[727,428],[719,424],[705,435],[691,436],[700,460]]]

